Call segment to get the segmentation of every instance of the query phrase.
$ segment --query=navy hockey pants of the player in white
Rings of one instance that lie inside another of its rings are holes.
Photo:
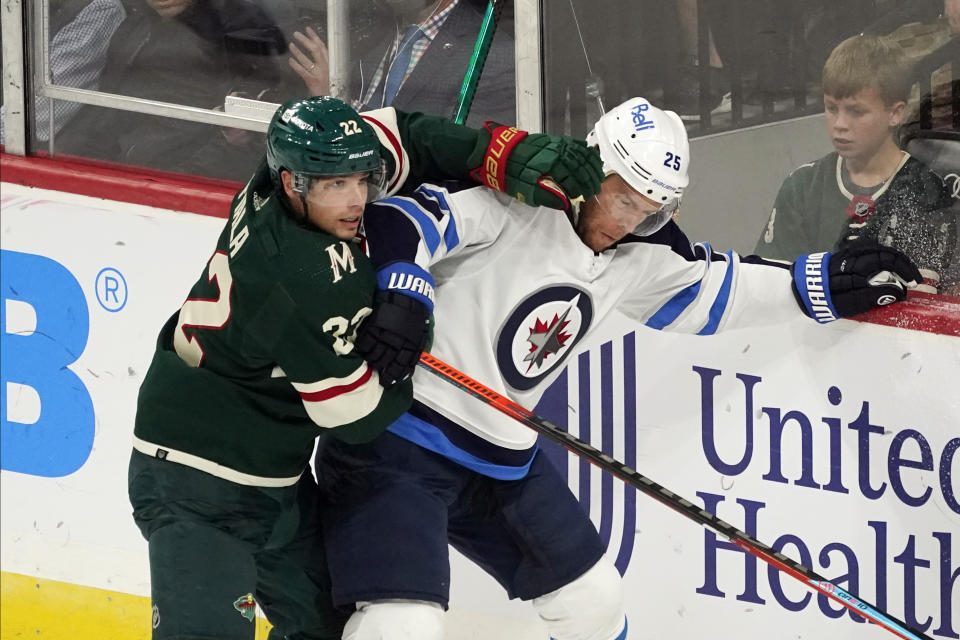
[[[316,469],[337,606],[402,598],[446,607],[448,543],[524,600],[568,584],[604,553],[542,455],[524,478],[505,481],[390,432],[360,445],[321,442]]]

